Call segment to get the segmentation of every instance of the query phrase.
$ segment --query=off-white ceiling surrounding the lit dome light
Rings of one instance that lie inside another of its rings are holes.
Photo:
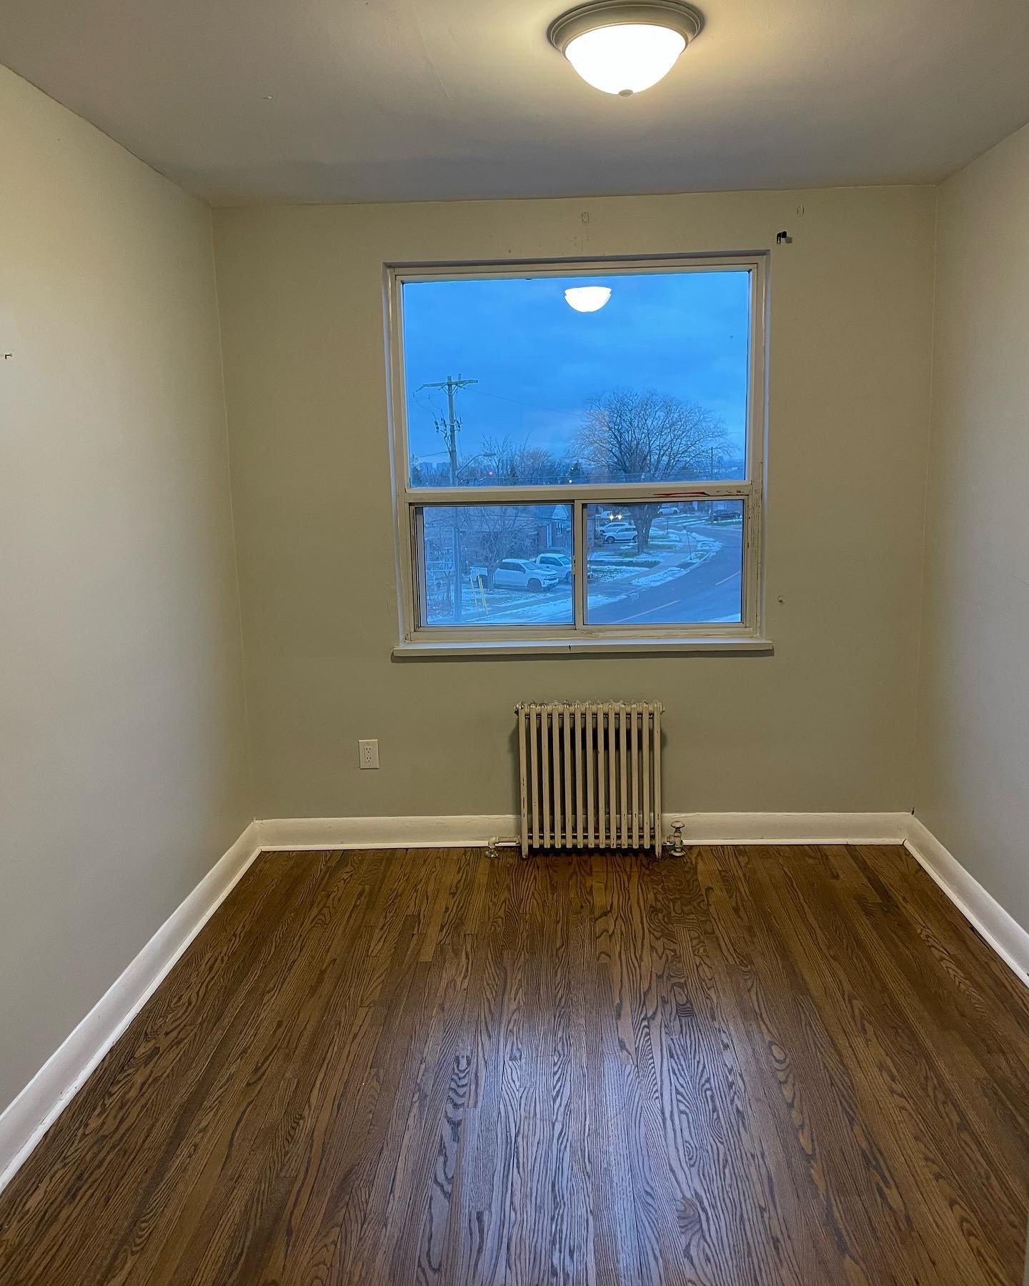
[[[632,99],[562,0],[3,0],[0,62],[214,204],[926,183],[1029,118],[1029,0],[700,5]]]

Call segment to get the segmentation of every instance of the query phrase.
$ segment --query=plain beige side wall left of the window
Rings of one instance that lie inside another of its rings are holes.
[[[3,1107],[252,809],[210,212],[0,120]]]

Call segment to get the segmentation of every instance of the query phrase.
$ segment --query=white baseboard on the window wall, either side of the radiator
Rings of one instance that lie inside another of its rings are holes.
[[[665,813],[687,844],[903,844],[907,813]],[[512,837],[514,814],[467,817],[306,817],[257,822],[262,849],[473,847]]]

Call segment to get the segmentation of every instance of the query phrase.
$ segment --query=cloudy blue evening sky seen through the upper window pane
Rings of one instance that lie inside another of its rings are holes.
[[[598,312],[565,302],[570,285],[610,285]],[[413,457],[445,463],[433,417],[446,395],[422,383],[462,374],[458,450],[484,437],[562,453],[590,399],[612,388],[656,390],[696,401],[724,422],[727,457],[746,435],[749,274],[738,269],[603,276],[408,282],[404,363]]]

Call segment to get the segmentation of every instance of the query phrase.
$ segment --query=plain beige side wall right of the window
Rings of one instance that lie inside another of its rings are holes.
[[[939,194],[918,817],[1029,927],[1029,127]]]

